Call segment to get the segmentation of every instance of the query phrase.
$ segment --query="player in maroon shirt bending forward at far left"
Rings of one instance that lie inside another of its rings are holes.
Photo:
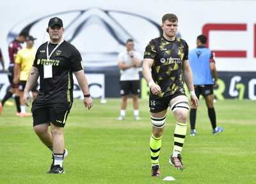
[[[6,95],[4,95],[2,102],[0,102],[0,114],[3,111],[4,102],[6,102],[6,100],[12,97],[12,95],[15,93],[15,103],[17,107],[16,115],[20,116],[20,96],[18,95],[19,84],[13,83],[13,72],[14,72],[15,58],[17,56],[17,52],[18,50],[22,49],[21,43],[24,43],[26,41],[27,36],[28,36],[27,31],[21,31],[20,34],[15,38],[15,40],[10,42],[9,44],[8,51],[9,51],[10,64],[8,68],[8,79],[11,86],[9,91],[6,93]]]

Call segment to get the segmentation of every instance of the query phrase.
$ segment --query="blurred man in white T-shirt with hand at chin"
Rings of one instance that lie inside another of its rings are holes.
[[[126,50],[118,54],[118,67],[120,69],[120,95],[122,95],[121,110],[118,120],[124,120],[126,114],[127,101],[130,93],[133,101],[133,114],[135,120],[140,120],[139,115],[139,94],[141,54],[134,50],[132,39],[126,41]]]

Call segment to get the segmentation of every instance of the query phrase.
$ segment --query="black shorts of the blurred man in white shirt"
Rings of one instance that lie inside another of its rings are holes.
[[[140,80],[138,81],[120,81],[120,95],[140,94]]]

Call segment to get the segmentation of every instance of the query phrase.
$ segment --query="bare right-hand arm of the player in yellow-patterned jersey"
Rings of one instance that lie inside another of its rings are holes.
[[[191,100],[193,101],[193,104],[191,104],[192,109],[196,109],[199,105],[198,98],[195,95],[195,88],[193,84],[193,73],[189,66],[188,60],[184,60],[182,64],[182,73],[184,76],[184,81],[188,87],[189,94],[191,96]]]

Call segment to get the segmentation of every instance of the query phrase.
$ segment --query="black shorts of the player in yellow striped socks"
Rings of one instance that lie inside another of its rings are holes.
[[[174,93],[173,95],[166,96],[166,97],[159,97],[157,95],[149,95],[149,108],[150,112],[157,113],[164,111],[170,106],[170,101],[180,95],[186,96],[185,93],[181,93],[180,91],[177,91],[177,93]]]

